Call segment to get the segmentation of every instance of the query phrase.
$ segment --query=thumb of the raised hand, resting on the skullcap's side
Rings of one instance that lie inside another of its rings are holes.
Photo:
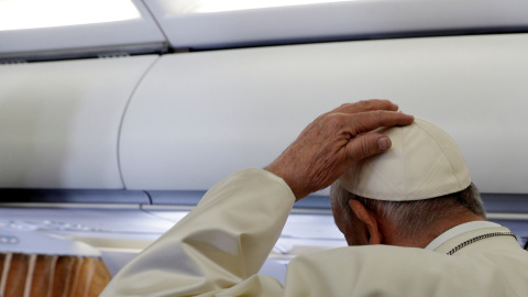
[[[391,148],[391,140],[380,133],[366,133],[352,139],[346,145],[348,160],[360,161]]]

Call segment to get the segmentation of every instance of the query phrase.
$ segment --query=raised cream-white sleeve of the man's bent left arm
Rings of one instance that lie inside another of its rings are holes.
[[[238,172],[125,265],[101,296],[196,296],[256,274],[289,215],[295,196],[263,169]]]

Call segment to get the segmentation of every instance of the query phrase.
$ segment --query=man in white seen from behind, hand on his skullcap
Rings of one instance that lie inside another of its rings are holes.
[[[212,187],[101,296],[528,296],[528,253],[485,220],[457,144],[397,110],[320,116],[265,169]],[[350,246],[297,256],[284,286],[258,274],[294,202],[331,184]]]

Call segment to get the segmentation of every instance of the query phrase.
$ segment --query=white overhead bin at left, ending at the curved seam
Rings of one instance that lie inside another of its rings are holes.
[[[0,188],[122,189],[121,119],[157,58],[0,65]]]

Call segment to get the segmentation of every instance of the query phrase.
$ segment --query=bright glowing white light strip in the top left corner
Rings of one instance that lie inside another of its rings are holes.
[[[0,31],[141,18],[131,0],[0,0]]]

